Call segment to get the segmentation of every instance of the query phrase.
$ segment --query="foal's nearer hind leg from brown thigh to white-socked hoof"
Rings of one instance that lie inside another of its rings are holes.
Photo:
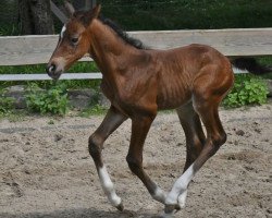
[[[199,156],[177,179],[169,193],[165,201],[165,216],[173,214],[173,205],[176,204],[178,196],[186,194],[187,187],[196,172],[226,141],[226,134],[221,124],[218,108],[232,87],[234,75],[231,64],[222,57],[220,64],[207,64],[194,80],[193,105],[205,124],[207,138]]]

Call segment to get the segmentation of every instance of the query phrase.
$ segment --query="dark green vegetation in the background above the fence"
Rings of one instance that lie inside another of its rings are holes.
[[[27,0],[23,0],[27,1]],[[30,0],[32,1],[32,0]],[[18,0],[2,0],[0,35],[21,35]],[[57,5],[62,0],[53,0]],[[73,0],[72,2],[76,2]],[[97,0],[102,14],[126,31],[272,26],[272,0]],[[54,19],[54,31],[60,22]]]

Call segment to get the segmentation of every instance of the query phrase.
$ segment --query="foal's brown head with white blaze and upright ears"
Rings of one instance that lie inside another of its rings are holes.
[[[87,28],[100,12],[100,5],[87,12],[75,12],[67,2],[65,5],[70,20],[62,27],[58,46],[47,65],[48,75],[54,80],[89,51],[91,41]]]

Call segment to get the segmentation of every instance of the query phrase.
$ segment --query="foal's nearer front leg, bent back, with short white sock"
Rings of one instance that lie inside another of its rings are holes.
[[[147,133],[154,119],[152,117],[137,117],[132,120],[132,137],[129,150],[126,157],[127,164],[133,173],[135,173],[145,184],[151,196],[162,204],[165,203],[165,193],[149,178],[143,168],[143,148]]]

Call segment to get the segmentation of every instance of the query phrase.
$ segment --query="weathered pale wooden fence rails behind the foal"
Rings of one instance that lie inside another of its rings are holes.
[[[271,56],[272,28],[199,29],[128,32],[152,49],[169,49],[189,44],[214,47],[227,57]],[[0,37],[0,65],[47,63],[58,43],[58,36]],[[92,61],[83,58],[81,61]],[[100,78],[96,73],[69,73],[62,80]],[[0,81],[50,80],[44,74],[1,74]]]

